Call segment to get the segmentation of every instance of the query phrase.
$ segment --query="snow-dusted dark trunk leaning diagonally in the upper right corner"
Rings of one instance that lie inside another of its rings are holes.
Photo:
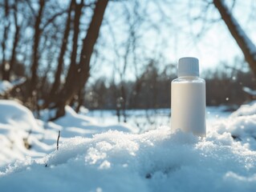
[[[222,20],[226,23],[226,26],[230,30],[230,34],[232,34],[235,41],[238,43],[238,46],[242,50],[250,69],[253,70],[254,74],[256,75],[256,46],[250,40],[250,38],[248,38],[244,30],[242,30],[242,27],[230,13],[225,2],[221,0],[213,0],[213,3],[221,14]]]

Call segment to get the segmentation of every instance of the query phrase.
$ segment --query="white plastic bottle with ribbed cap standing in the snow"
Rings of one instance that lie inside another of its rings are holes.
[[[197,136],[206,135],[205,80],[199,78],[197,58],[180,58],[172,82],[171,130],[180,129]]]

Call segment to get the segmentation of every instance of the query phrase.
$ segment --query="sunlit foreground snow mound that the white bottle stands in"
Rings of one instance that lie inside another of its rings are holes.
[[[2,172],[0,186],[10,191],[254,191],[255,157],[229,133],[199,139],[171,134],[169,127],[144,134],[108,131],[71,138],[40,160],[16,162]]]

